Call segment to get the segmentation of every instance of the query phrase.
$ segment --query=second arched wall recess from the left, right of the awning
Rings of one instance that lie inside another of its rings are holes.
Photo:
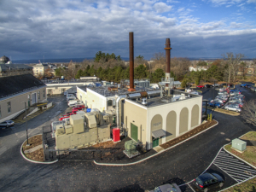
[[[176,112],[169,112],[166,117],[166,142],[176,137],[176,122]]]

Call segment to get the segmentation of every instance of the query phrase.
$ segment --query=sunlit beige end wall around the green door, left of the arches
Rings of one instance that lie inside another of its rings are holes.
[[[121,111],[121,110],[120,110]],[[127,120],[126,120],[127,119]],[[128,131],[128,137],[131,137],[131,123],[137,125],[138,140],[146,144],[147,135],[147,109],[141,108],[135,102],[125,99],[124,103],[124,121]]]

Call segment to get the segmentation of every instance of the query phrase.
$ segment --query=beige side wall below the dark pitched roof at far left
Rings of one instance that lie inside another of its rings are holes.
[[[44,94],[45,91],[45,94]],[[30,100],[30,103],[32,105],[32,94],[36,93],[37,94],[37,102],[43,102],[46,101],[47,96],[46,96],[46,87],[39,88],[38,90],[32,90],[29,92],[26,92],[22,95],[19,96],[12,96],[10,98],[6,98],[2,101],[0,101],[0,106],[1,106],[1,117],[0,117],[0,122],[4,120],[9,120],[14,118],[16,115],[21,113],[22,111],[25,110],[25,104],[26,102],[26,107],[28,106],[28,100]],[[40,94],[40,97],[39,97]],[[29,99],[28,99],[29,96]],[[38,99],[39,98],[39,99]],[[11,102],[11,112],[8,113],[8,102]]]

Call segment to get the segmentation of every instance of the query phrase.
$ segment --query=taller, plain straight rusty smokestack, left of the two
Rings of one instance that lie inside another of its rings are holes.
[[[134,47],[133,47],[133,32],[129,32],[129,51],[130,51],[130,89],[134,89]]]

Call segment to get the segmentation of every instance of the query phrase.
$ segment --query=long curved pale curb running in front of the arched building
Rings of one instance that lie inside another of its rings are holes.
[[[215,120],[215,119],[214,119],[214,120]],[[201,131],[201,132],[195,134],[193,137],[196,137],[196,136],[200,135],[201,133],[203,133],[203,132],[205,132],[205,131],[211,129],[212,127],[214,127],[214,126],[216,126],[216,125],[218,125],[218,121],[217,121],[217,120],[215,120],[215,121],[217,122],[217,124],[212,125],[211,127],[207,128],[206,130]],[[167,150],[169,150],[169,149],[171,149],[171,148],[174,148],[174,147],[176,147],[177,145],[180,145],[180,144],[182,144],[182,143],[188,141],[189,139],[191,139],[191,138],[193,138],[193,137],[189,137],[189,138],[185,139],[185,140],[184,140],[183,142],[181,142],[181,143],[177,143],[176,145],[173,145],[173,146],[170,147],[170,148],[166,148],[165,150],[162,150],[162,151],[160,151],[160,152],[157,153],[157,154],[153,154],[153,155],[151,155],[151,156],[149,156],[149,157],[147,157],[147,158],[145,158],[145,159],[143,159],[143,160],[138,160],[138,161],[136,161],[136,162],[126,163],[126,164],[97,163],[96,160],[94,160],[93,162],[94,162],[96,165],[98,165],[98,166],[132,166],[132,165],[136,165],[136,164],[138,164],[138,163],[141,163],[141,162],[143,162],[144,160],[148,160],[148,159],[150,159],[150,158],[152,158],[152,157],[154,157],[154,156],[156,156],[156,155],[158,155],[158,154],[164,153],[164,152],[166,152]]]

